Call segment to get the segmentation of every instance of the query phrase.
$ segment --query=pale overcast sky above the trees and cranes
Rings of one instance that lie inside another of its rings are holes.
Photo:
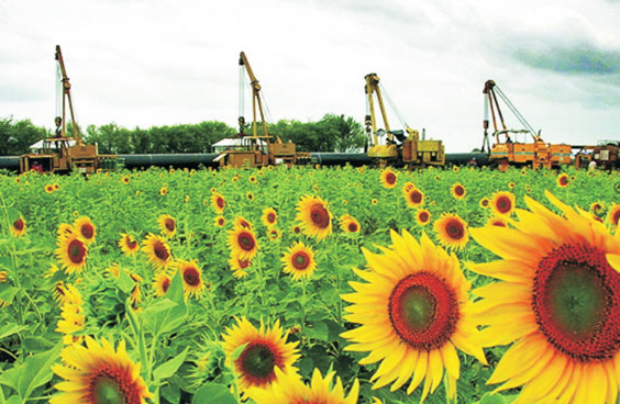
[[[487,79],[547,142],[620,139],[619,0],[469,3],[0,0],[0,119],[54,126],[58,44],[82,127],[236,127],[244,50],[270,122],[362,123],[377,72],[407,124],[450,153],[480,147]]]

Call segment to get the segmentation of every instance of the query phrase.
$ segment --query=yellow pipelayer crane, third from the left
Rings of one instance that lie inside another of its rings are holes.
[[[390,130],[381,94],[383,86],[379,85],[379,77],[372,72],[366,75],[364,78],[366,80],[365,126],[366,134],[370,141],[367,153],[368,157],[381,167],[387,165],[406,166],[407,168],[444,166],[445,152],[442,141],[427,141],[424,139],[424,136],[420,139],[420,133],[407,125],[394,103],[390,101],[389,97],[387,97],[388,102],[390,102],[394,111],[397,113],[405,126],[406,133],[401,130]],[[385,130],[377,130],[374,96],[376,96],[379,104],[381,117],[385,123]],[[381,144],[380,139],[384,138],[384,136],[386,141],[385,144]]]

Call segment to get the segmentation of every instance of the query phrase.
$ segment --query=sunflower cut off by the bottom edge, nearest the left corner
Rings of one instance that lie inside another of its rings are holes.
[[[60,354],[64,364],[52,371],[64,379],[55,385],[63,392],[51,404],[129,403],[144,404],[153,397],[125,350],[124,339],[117,350],[101,338],[101,343],[86,337],[86,347],[69,345]]]

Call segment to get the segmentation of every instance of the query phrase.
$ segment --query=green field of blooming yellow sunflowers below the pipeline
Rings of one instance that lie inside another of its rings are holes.
[[[617,403],[617,183],[0,173],[0,404]]]

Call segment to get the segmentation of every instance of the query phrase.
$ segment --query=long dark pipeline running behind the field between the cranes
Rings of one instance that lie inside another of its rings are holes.
[[[146,169],[148,167],[175,167],[175,168],[199,168],[218,167],[213,161],[218,157],[215,153],[186,153],[186,154],[152,154],[152,155],[119,155],[120,161],[128,169]],[[445,155],[446,166],[467,165],[472,158],[476,158],[478,166],[489,164],[486,153],[453,153]],[[370,166],[373,159],[365,153],[311,153],[310,162],[321,166]],[[0,169],[16,171],[20,168],[19,156],[0,157]]]

